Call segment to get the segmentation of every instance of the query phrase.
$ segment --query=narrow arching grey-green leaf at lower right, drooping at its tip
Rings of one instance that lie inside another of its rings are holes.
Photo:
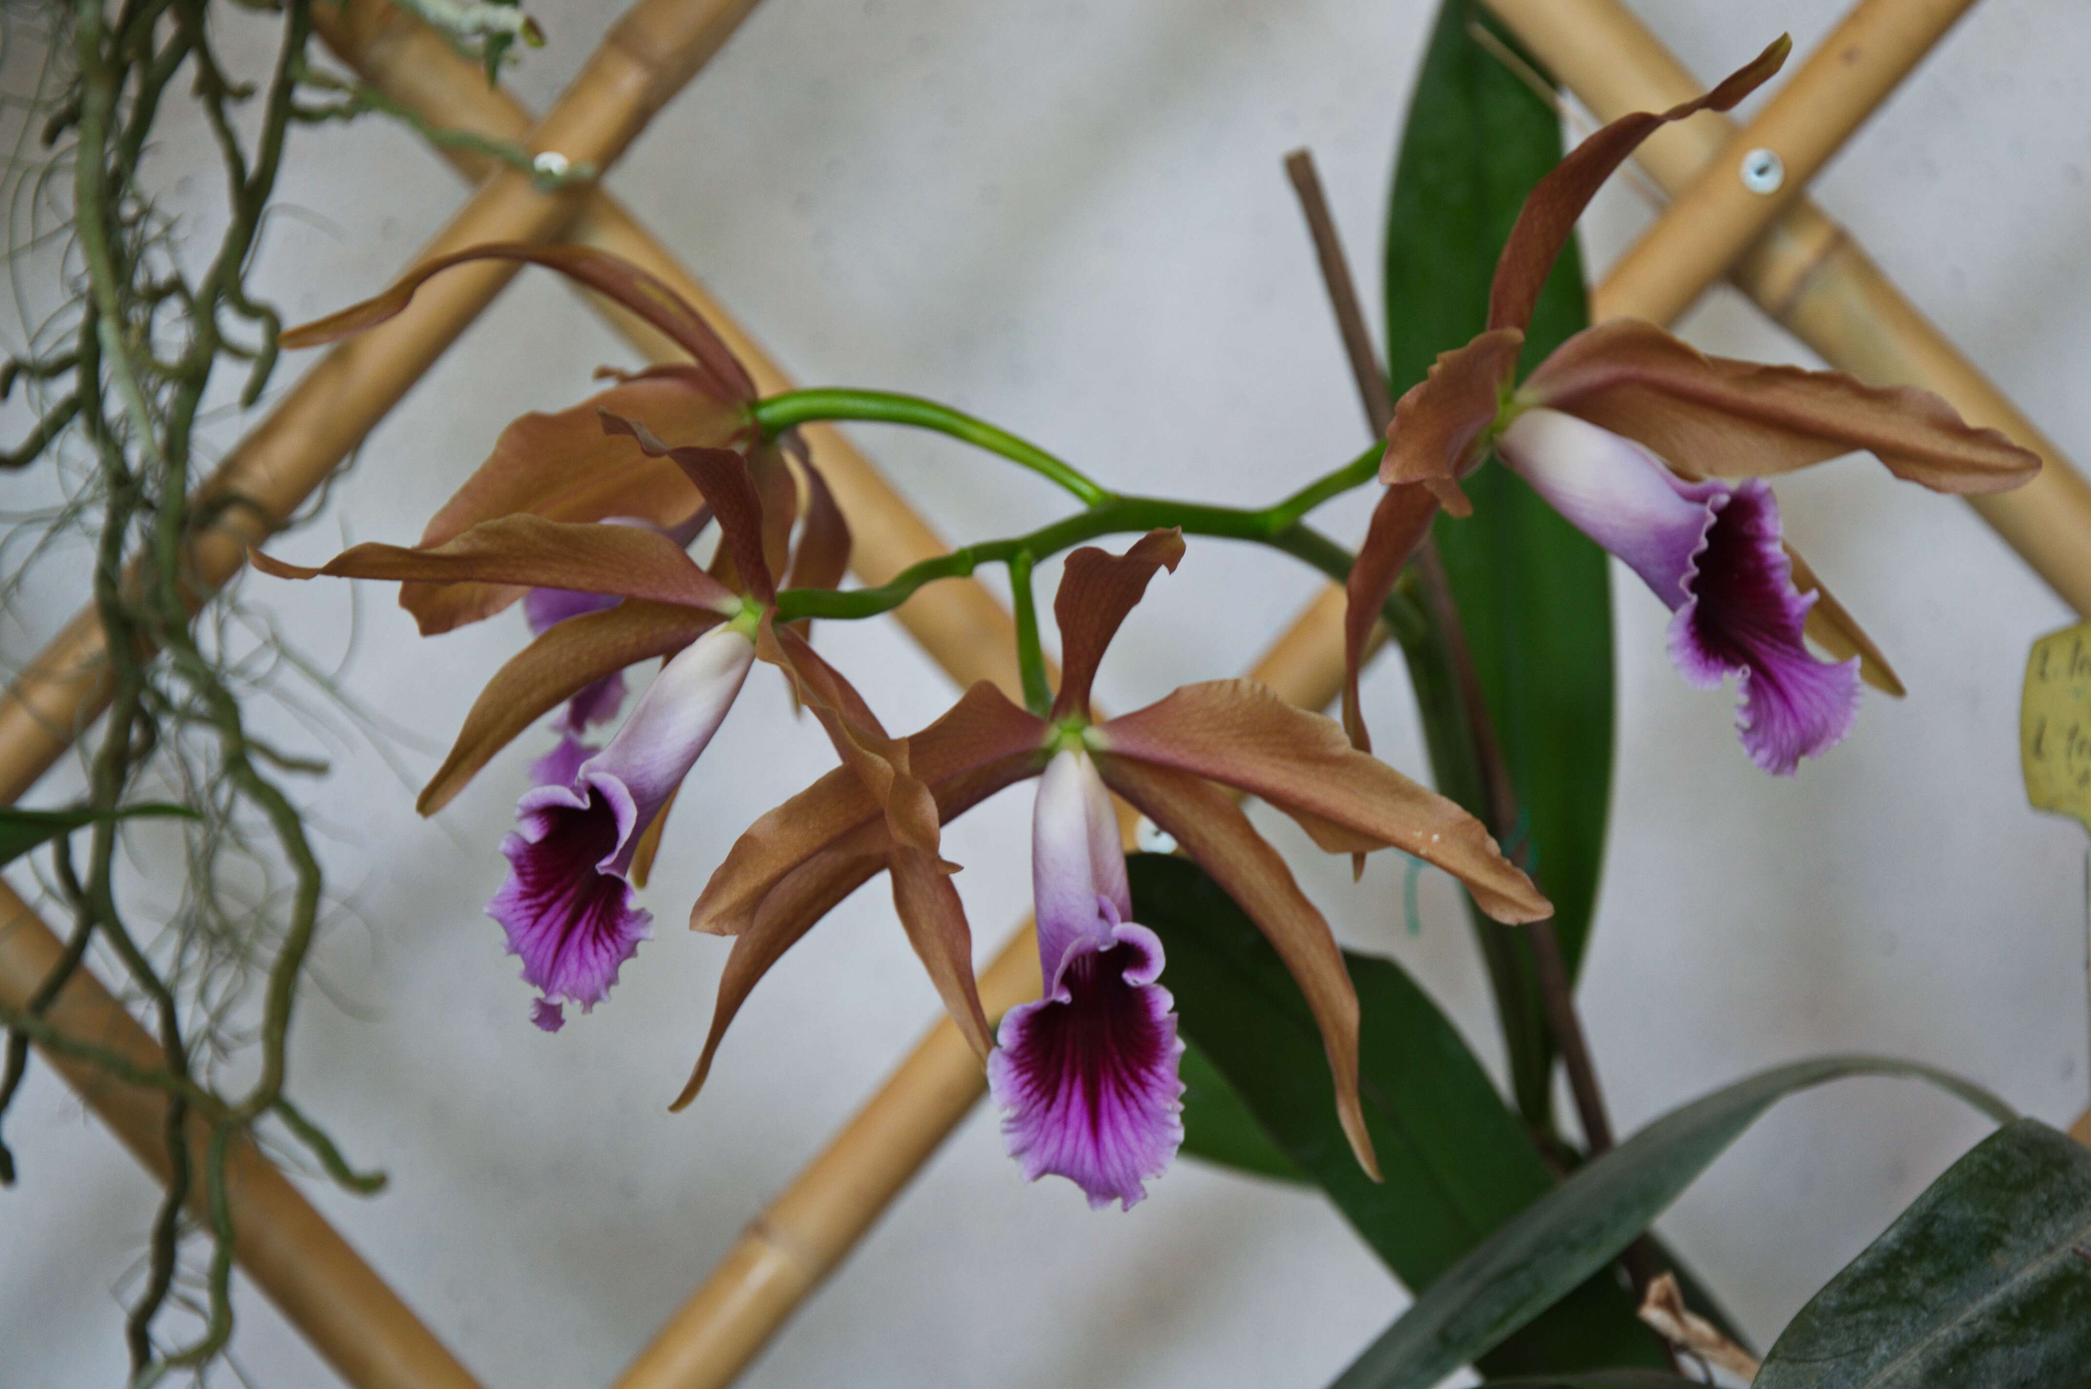
[[[1662,1115],[1497,1230],[1434,1282],[1336,1381],[1430,1389],[1533,1322],[1648,1228],[1775,1100],[1844,1075],[1913,1075],[2009,1121],[2012,1109],[1911,1061],[1823,1056],[1761,1071]]]

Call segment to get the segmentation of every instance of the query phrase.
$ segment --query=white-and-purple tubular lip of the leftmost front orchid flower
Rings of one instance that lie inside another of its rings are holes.
[[[661,669],[606,749],[516,803],[516,830],[502,841],[508,881],[487,914],[523,958],[523,981],[542,989],[533,1019],[546,1031],[562,1021],[562,1002],[594,1008],[648,937],[652,916],[627,883],[631,858],[753,661],[744,632],[713,628]]]

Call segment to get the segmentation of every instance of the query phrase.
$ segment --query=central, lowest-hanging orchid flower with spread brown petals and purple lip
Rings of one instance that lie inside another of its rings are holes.
[[[1046,996],[1002,1025],[989,1061],[1006,1134],[1029,1176],[1073,1178],[1098,1205],[1131,1205],[1179,1138],[1175,1023],[1158,987],[1161,943],[1129,920],[1119,837],[1102,789],[1169,830],[1278,948],[1299,981],[1336,1079],[1336,1111],[1359,1163],[1374,1171],[1357,1098],[1357,996],[1328,923],[1278,851],[1221,787],[1259,795],[1328,851],[1399,847],[1462,879],[1485,912],[1537,920],[1545,897],[1451,801],[1355,751],[1342,730],[1248,680],[1192,684],[1112,720],[1094,720],[1089,686],[1125,615],[1156,569],[1184,554],[1177,531],[1152,531],[1125,554],[1069,554],[1054,615],[1064,676],[1039,718],[993,684],[974,684],[943,718],[903,741],[912,776],[949,822],[995,791],[1043,778],[1035,820],[1039,973]],[[987,1058],[972,943],[949,881],[903,891],[907,847],[861,776],[847,770],[761,816],[713,872],[690,912],[698,931],[732,935],[688,1105],[755,983],[834,904],[895,868],[895,900],[960,1033]]]

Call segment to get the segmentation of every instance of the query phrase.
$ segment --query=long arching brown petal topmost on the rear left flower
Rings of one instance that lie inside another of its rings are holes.
[[[709,379],[709,389],[726,402],[742,404],[757,397],[755,381],[719,335],[705,322],[705,316],[690,308],[673,289],[640,270],[621,255],[596,251],[592,247],[548,247],[523,241],[491,241],[468,247],[454,255],[441,255],[424,266],[408,270],[397,284],[374,299],[349,305],[339,314],[328,314],[314,322],[291,328],[282,335],[284,347],[318,347],[337,339],[374,328],[387,318],[399,316],[414,291],[431,276],[464,266],[466,261],[508,259],[529,261],[556,270],[569,280],[577,280],[611,299],[648,324],[665,333],[677,347],[688,351]]]

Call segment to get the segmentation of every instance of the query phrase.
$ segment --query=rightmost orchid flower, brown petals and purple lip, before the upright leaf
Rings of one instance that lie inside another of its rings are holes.
[[[1782,776],[1851,730],[1861,659],[1878,653],[1784,548],[1763,477],[1855,450],[1936,492],[1997,492],[2039,471],[2035,454],[1926,391],[1706,358],[1639,320],[1587,328],[1516,381],[1539,289],[1600,184],[1667,121],[1731,109],[1790,46],[1782,38],[1698,100],[1621,117],[1570,151],[1503,245],[1487,331],[1397,404],[1380,464],[1388,489],[1349,582],[1345,726],[1357,747],[1370,747],[1357,669],[1372,621],[1439,506],[1468,513],[1457,479],[1491,450],[1671,609],[1671,659],[1687,682],[1736,676],[1742,745]],[[1828,619],[1825,642],[1859,655],[1811,655],[1811,613]]]

